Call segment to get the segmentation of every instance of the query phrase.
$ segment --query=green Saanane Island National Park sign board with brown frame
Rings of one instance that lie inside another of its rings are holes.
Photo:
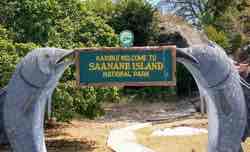
[[[175,47],[77,49],[81,86],[175,85]]]

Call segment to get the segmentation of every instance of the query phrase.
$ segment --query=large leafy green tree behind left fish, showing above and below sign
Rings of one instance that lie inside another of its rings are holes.
[[[3,0],[0,12],[4,25],[0,26],[0,87],[7,85],[21,57],[36,47],[118,45],[117,35],[107,21],[80,0]],[[59,120],[67,121],[75,114],[94,118],[103,113],[103,101],[116,101],[119,96],[114,88],[78,88],[74,79],[72,67],[53,95],[53,114]]]

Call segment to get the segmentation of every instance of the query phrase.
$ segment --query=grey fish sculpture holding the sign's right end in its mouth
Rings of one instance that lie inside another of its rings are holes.
[[[213,42],[177,48],[177,62],[207,97],[208,152],[239,152],[247,122],[241,78],[225,51]]]

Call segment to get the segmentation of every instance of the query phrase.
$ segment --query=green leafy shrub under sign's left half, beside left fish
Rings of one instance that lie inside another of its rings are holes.
[[[78,88],[73,82],[60,83],[53,95],[53,115],[59,121],[68,121],[75,115],[95,118],[104,114],[102,103],[117,101],[114,88]]]

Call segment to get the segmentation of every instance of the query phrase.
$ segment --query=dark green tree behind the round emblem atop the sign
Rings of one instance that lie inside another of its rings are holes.
[[[114,16],[109,21],[116,33],[133,31],[136,46],[149,45],[158,39],[158,23],[157,10],[144,0],[117,2]]]

